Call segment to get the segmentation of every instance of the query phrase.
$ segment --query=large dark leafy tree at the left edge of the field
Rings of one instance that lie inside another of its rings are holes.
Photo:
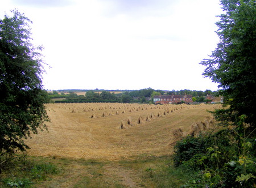
[[[31,44],[31,20],[12,11],[0,20],[0,154],[24,151],[24,139],[49,121],[43,91],[42,46]]]

